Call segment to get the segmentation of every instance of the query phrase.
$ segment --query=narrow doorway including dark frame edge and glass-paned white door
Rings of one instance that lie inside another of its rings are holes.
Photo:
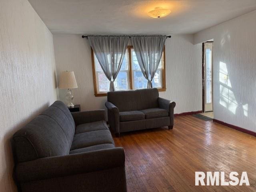
[[[213,111],[213,42],[204,42],[202,50],[203,112]]]

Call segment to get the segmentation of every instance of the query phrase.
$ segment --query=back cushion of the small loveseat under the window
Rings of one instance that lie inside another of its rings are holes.
[[[119,111],[136,111],[158,107],[158,89],[137,89],[108,92],[108,101]]]

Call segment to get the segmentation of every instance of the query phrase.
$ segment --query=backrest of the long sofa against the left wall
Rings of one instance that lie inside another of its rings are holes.
[[[41,115],[13,136],[17,162],[67,155],[74,137],[74,119],[61,101],[56,101]]]

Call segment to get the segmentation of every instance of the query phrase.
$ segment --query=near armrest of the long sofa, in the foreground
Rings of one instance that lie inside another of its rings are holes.
[[[21,162],[16,166],[18,182],[29,182],[84,174],[124,166],[124,149],[122,147],[95,150],[84,153],[38,158]]]

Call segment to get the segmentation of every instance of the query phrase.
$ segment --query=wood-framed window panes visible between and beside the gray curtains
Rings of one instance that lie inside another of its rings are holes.
[[[92,50],[92,49],[91,49]],[[165,48],[156,71],[156,74],[152,80],[152,87],[158,88],[159,91],[165,91]],[[109,90],[110,81],[107,79],[100,63],[96,58],[92,50],[92,70],[94,77],[94,92],[95,96],[106,96]],[[128,46],[124,55],[124,60],[121,65],[121,69],[114,81],[116,91],[128,90],[128,89],[143,89],[147,87],[148,81],[142,74],[140,66],[137,61],[134,49],[132,46]]]

